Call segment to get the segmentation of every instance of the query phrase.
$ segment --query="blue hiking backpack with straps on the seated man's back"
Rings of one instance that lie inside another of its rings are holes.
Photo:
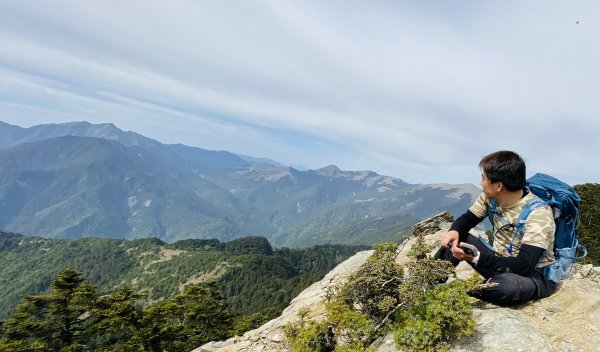
[[[575,260],[587,255],[585,246],[579,243],[577,236],[581,198],[571,186],[546,174],[538,173],[528,178],[526,187],[538,198],[533,198],[527,202],[521,210],[517,222],[508,225],[515,227],[515,236],[523,237],[525,221],[531,211],[544,205],[549,205],[552,208],[556,224],[554,239],[554,258],[556,262],[544,267],[543,270],[544,276],[548,280],[560,282],[562,277],[570,272]],[[492,222],[492,226],[495,214],[496,201],[490,200],[488,217]],[[512,243],[509,247],[509,253],[511,248]],[[582,252],[582,254],[578,255],[579,252]]]

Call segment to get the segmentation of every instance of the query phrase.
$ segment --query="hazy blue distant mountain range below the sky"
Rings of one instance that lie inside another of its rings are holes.
[[[412,185],[372,171],[256,160],[161,144],[112,124],[0,122],[0,229],[52,238],[262,235],[276,246],[367,244],[439,211],[462,212],[479,193],[470,184]]]

